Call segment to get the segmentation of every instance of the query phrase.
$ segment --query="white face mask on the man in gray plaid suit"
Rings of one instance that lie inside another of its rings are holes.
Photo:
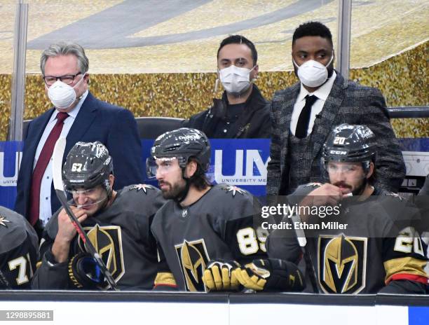
[[[328,72],[327,67],[334,60],[334,53],[332,52],[331,60],[326,65],[321,64],[315,60],[308,60],[298,67],[297,62],[292,59],[295,67],[298,68],[298,78],[301,83],[307,87],[319,87],[327,80]]]

